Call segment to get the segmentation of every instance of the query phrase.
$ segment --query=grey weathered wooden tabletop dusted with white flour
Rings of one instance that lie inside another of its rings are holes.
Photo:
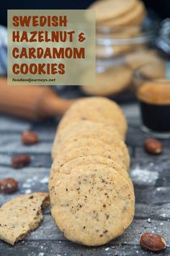
[[[127,144],[131,155],[130,176],[135,186],[135,219],[130,228],[115,241],[102,247],[88,248],[73,244],[63,237],[50,216],[44,211],[44,220],[22,242],[14,247],[0,242],[1,256],[56,256],[56,255],[154,255],[140,249],[139,239],[144,232],[154,232],[165,237],[168,247],[158,255],[170,255],[170,140],[164,140],[164,153],[148,155],[143,150],[146,135],[140,132],[138,107],[135,104],[123,106],[128,117]],[[0,205],[18,195],[48,191],[50,171],[50,149],[57,120],[31,123],[10,116],[0,116],[0,179],[14,177],[19,190],[12,195],[0,194]],[[40,143],[24,146],[20,135],[25,129],[32,129],[40,136]],[[11,156],[28,153],[30,166],[13,169]]]

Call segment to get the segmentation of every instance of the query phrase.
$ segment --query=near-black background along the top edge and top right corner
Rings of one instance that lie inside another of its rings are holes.
[[[92,0],[1,0],[0,24],[7,25],[7,9],[86,9]],[[163,20],[170,17],[170,0],[144,0],[148,9],[153,9]]]

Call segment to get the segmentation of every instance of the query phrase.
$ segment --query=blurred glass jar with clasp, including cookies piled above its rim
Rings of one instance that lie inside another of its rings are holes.
[[[117,95],[132,87],[134,69],[159,61],[153,50],[158,22],[148,18],[140,0],[98,0],[89,8],[97,20],[97,77],[96,85],[81,89],[88,95]]]

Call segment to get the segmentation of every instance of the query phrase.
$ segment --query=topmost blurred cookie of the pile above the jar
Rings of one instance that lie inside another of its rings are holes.
[[[119,17],[133,9],[135,0],[95,1],[89,9],[94,9],[97,22]]]

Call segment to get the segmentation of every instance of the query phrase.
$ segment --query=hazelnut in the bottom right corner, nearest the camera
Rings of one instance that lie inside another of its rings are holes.
[[[145,233],[140,237],[140,246],[144,249],[157,252],[166,248],[166,241],[159,234]]]

